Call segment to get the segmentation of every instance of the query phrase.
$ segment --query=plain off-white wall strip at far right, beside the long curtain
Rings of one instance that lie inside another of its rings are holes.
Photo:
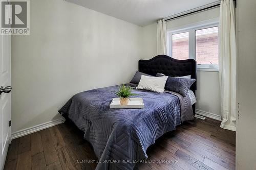
[[[256,169],[256,1],[238,1],[237,169]]]

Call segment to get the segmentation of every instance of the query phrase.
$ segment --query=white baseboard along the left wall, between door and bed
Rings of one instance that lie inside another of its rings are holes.
[[[58,125],[58,124],[62,124],[64,122],[65,122],[65,118],[60,118],[60,119],[57,119],[57,120],[52,120],[52,121],[47,122],[47,123],[43,123],[43,124],[39,124],[39,125],[30,127],[30,128],[19,130],[17,132],[12,133],[11,139],[22,137],[22,136],[25,136],[25,135],[28,135],[28,134],[46,129],[46,128],[53,127],[53,126]]]

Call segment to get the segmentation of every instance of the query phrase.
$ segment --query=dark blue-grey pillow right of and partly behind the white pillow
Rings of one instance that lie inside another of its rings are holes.
[[[162,77],[163,75],[157,74],[156,77]],[[175,78],[175,77],[168,77],[165,90],[170,90],[181,94],[183,97],[187,95],[187,92],[190,86],[195,82],[195,79],[184,79],[184,78]]]

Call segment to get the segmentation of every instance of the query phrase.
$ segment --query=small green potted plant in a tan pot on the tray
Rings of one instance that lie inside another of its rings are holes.
[[[127,105],[129,97],[137,95],[135,93],[132,93],[132,90],[133,87],[131,86],[125,86],[124,84],[122,86],[119,86],[119,89],[117,92],[115,92],[115,94],[119,97],[121,105]]]

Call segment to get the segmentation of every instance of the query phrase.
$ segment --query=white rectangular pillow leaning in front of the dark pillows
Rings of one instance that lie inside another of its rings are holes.
[[[141,76],[137,89],[144,89],[156,92],[164,92],[164,86],[168,76],[163,77],[149,77]]]

